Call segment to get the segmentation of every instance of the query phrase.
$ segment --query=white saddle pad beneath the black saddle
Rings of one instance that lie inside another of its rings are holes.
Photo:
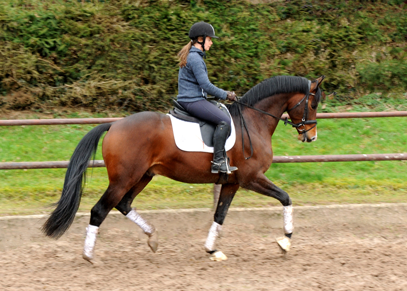
[[[186,152],[205,152],[213,153],[213,147],[208,147],[203,143],[202,135],[200,134],[199,124],[195,122],[183,121],[178,118],[173,117],[171,114],[169,118],[171,119],[172,131],[174,133],[175,143],[177,147]],[[226,152],[229,151],[236,141],[236,131],[233,120],[231,121],[232,132],[230,136],[226,139],[225,149]]]

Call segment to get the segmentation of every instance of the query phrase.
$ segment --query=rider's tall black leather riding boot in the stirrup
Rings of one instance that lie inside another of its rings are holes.
[[[224,154],[226,139],[229,136],[230,126],[222,121],[215,129],[213,135],[213,162],[211,170],[213,173],[227,172],[226,155]],[[236,171],[237,167],[229,166],[229,171]]]

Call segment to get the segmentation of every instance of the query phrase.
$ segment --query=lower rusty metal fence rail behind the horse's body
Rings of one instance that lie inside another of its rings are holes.
[[[403,154],[370,154],[370,155],[321,155],[321,156],[276,156],[277,163],[317,163],[317,162],[359,162],[359,161],[405,161],[407,153]],[[68,167],[69,161],[58,162],[7,162],[0,163],[0,170],[17,169],[60,169]],[[105,167],[103,160],[90,161],[88,167]]]

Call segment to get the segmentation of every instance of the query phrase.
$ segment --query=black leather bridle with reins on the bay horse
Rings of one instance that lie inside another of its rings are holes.
[[[317,88],[317,86],[318,86],[318,81],[316,81],[316,82],[317,82],[317,83],[316,83],[316,88]],[[305,100],[304,113],[303,113],[301,122],[299,122],[299,123],[290,122],[290,121],[288,121],[288,118],[282,119],[282,118],[276,117],[275,115],[270,114],[269,112],[260,110],[260,109],[258,109],[258,108],[256,108],[256,107],[253,107],[253,106],[248,105],[248,104],[244,104],[244,103],[239,102],[239,101],[235,101],[235,103],[239,103],[239,104],[244,105],[244,106],[246,106],[246,107],[248,107],[248,108],[250,108],[250,109],[256,110],[256,111],[258,111],[258,112],[260,112],[260,113],[263,113],[263,114],[269,115],[269,116],[271,116],[271,117],[274,117],[274,118],[276,118],[276,119],[278,119],[278,120],[281,120],[281,121],[284,122],[284,125],[285,125],[285,126],[286,126],[287,124],[289,124],[289,125],[295,127],[298,131],[300,131],[300,134],[303,134],[303,133],[305,134],[307,131],[310,131],[311,129],[313,129],[313,128],[316,126],[316,124],[317,124],[316,120],[307,120],[307,118],[308,118],[308,100],[309,100],[309,95],[315,96],[315,94],[309,92],[310,90],[311,90],[311,81],[308,80],[308,93],[307,93],[307,94],[304,96],[304,98],[301,99],[301,101],[298,102],[294,107],[292,107],[292,108],[286,110],[286,112],[288,113],[289,111],[291,111],[291,110],[293,110],[294,108],[298,107],[298,106]],[[239,110],[239,114],[240,114],[240,121],[241,121],[241,128],[242,128],[243,156],[244,156],[244,158],[247,160],[247,159],[250,159],[250,158],[253,156],[253,146],[252,146],[252,144],[251,144],[251,139],[250,139],[250,135],[249,135],[249,130],[247,129],[246,122],[245,122],[245,120],[244,120],[244,118],[243,118],[242,111],[241,111],[241,109],[240,109],[239,106],[238,106],[238,110]],[[305,129],[305,125],[306,125],[306,124],[314,124],[314,126],[306,130],[306,129]],[[251,153],[250,153],[250,157],[248,157],[248,158],[246,158],[246,155],[245,155],[245,141],[244,141],[243,127],[246,129],[247,135],[248,135],[248,137],[249,137],[249,142],[250,142],[250,151],[251,151]],[[303,127],[303,128],[301,128],[301,127]]]

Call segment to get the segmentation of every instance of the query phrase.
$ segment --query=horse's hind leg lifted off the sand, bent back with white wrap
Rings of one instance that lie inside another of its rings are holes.
[[[125,215],[128,219],[137,224],[144,231],[144,234],[149,236],[147,243],[149,244],[151,250],[153,252],[156,252],[158,247],[158,235],[155,227],[147,220],[142,218],[136,211],[136,208],[131,208],[133,199],[144,189],[144,187],[147,186],[147,184],[149,184],[152,178],[153,177],[144,174],[141,180],[136,185],[134,185],[126,193],[126,195],[124,195],[122,200],[117,206],[115,206],[115,208],[119,210],[123,215]]]

